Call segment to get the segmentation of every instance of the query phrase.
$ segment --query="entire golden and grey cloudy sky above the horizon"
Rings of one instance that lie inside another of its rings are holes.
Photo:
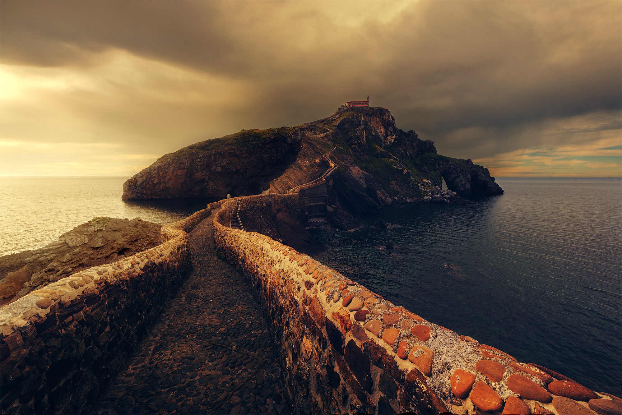
[[[622,174],[622,2],[0,2],[0,175],[130,176],[364,99],[494,176]]]

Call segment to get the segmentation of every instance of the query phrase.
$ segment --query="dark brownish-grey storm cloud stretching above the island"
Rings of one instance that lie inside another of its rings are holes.
[[[240,128],[312,121],[369,91],[399,127],[481,158],[557,144],[538,131],[587,114],[620,128],[621,4],[3,1],[0,58],[80,71],[119,49],[248,83],[226,117]]]

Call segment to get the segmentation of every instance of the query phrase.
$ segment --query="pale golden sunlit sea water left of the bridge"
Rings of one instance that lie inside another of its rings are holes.
[[[37,249],[96,216],[169,224],[212,200],[122,201],[127,177],[0,177],[0,255]]]

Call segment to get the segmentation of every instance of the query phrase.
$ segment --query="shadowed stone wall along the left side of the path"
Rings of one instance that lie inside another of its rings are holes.
[[[88,413],[190,273],[187,232],[215,206],[162,227],[157,247],[0,308],[2,413]]]

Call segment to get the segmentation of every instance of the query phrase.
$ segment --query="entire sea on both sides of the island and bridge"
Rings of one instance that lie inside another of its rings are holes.
[[[1,177],[0,255],[96,216],[167,224],[212,201],[122,201],[126,179]],[[505,193],[475,204],[384,209],[388,228],[310,223],[326,247],[314,257],[428,321],[621,396],[622,180],[497,182]]]

